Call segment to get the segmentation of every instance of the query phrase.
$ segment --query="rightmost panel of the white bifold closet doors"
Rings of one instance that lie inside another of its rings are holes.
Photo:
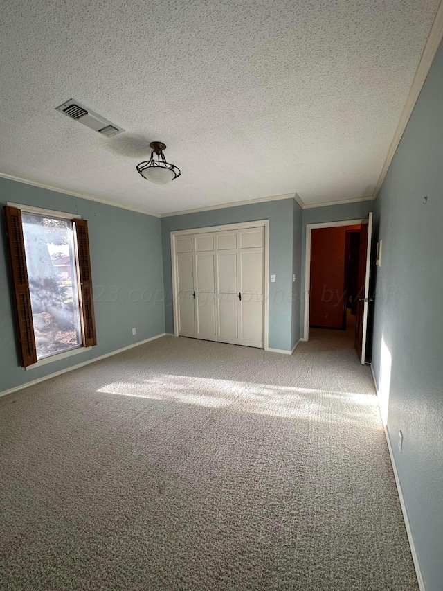
[[[264,228],[239,230],[239,339],[264,345]]]

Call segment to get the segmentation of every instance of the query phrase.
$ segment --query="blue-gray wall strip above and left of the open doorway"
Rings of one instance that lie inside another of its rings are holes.
[[[302,210],[302,260],[301,260],[301,306],[300,306],[300,330],[303,336],[305,322],[305,263],[306,263],[306,227],[308,224],[321,224],[323,222],[343,222],[345,220],[363,220],[370,211],[374,211],[375,202],[360,201],[341,205],[328,205],[324,207],[310,207]]]

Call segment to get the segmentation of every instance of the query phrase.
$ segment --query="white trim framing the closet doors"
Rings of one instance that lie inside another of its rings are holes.
[[[171,267],[172,267],[172,309],[174,311],[174,337],[179,336],[179,310],[177,306],[177,236],[186,234],[203,234],[222,232],[224,230],[244,230],[248,228],[264,228],[264,351],[269,351],[269,220],[257,222],[241,222],[239,224],[224,224],[223,226],[208,226],[205,228],[190,228],[171,232]]]

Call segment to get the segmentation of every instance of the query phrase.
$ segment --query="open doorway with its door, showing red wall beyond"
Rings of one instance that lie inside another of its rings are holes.
[[[308,224],[305,341],[327,339],[366,360],[372,213],[364,220]]]

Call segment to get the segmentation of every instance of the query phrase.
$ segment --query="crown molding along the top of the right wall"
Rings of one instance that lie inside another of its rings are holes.
[[[401,137],[406,130],[406,125],[408,125],[408,121],[410,116],[413,114],[413,110],[415,107],[415,103],[417,103],[417,99],[419,97],[420,92],[422,91],[424,82],[426,80],[426,76],[428,76],[428,72],[431,69],[432,62],[435,58],[435,54],[437,53],[437,49],[440,46],[440,43],[443,39],[443,1],[440,2],[440,6],[437,8],[437,12],[435,13],[435,19],[433,21],[433,25],[431,27],[431,31],[428,36],[428,40],[426,41],[426,45],[424,46],[424,50],[422,53],[422,58],[420,58],[417,71],[415,72],[413,83],[410,87],[408,98],[406,98],[406,103],[403,108],[403,112],[401,113],[399,123],[397,125],[397,129],[395,130],[394,137],[390,143],[388,154],[386,155],[386,159],[383,164],[383,168],[381,168],[381,173],[379,176],[379,180],[377,185],[375,186],[374,190],[374,197],[377,197],[379,191],[381,189],[381,185],[388,173],[388,169],[390,167],[390,163],[392,162],[392,158],[397,151],[399,143],[401,141]]]

